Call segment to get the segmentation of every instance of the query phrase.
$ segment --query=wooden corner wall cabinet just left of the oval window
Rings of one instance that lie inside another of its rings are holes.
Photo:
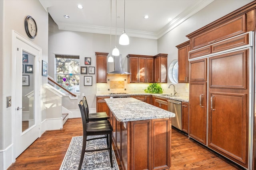
[[[154,56],[154,82],[167,83],[167,55],[158,54]]]

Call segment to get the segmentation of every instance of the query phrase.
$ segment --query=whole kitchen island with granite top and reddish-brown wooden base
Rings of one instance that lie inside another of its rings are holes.
[[[123,170],[171,167],[171,117],[174,113],[135,98],[106,98],[113,143]]]

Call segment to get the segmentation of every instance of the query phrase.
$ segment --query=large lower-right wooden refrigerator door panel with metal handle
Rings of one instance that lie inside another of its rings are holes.
[[[247,166],[246,94],[210,92],[208,147]]]

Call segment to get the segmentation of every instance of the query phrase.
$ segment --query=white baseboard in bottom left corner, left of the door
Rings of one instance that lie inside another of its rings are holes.
[[[0,170],[6,170],[13,162],[15,162],[13,146],[14,145],[11,144],[6,149],[0,150]]]

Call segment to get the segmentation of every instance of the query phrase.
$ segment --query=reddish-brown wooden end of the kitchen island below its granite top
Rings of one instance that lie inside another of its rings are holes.
[[[171,118],[121,122],[120,130],[121,155],[118,156],[122,169],[165,170],[171,167]]]

